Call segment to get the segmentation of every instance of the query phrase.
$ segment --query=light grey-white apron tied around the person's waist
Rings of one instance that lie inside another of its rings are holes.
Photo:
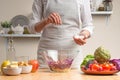
[[[38,60],[41,67],[44,67],[45,60],[42,56],[43,49],[72,49],[79,50],[80,53],[76,57],[73,66],[79,68],[82,54],[80,46],[77,45],[73,36],[80,33],[80,12],[77,0],[43,0],[44,1],[44,17],[52,12],[60,14],[62,25],[47,25],[42,33],[38,46]]]

